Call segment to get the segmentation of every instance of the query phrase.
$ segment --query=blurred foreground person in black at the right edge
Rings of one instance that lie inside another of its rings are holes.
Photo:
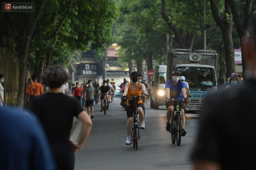
[[[256,153],[256,23],[244,38],[245,81],[206,98],[192,159],[195,170],[249,170]]]

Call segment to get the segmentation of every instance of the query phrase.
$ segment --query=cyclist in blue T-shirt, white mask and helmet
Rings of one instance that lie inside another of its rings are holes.
[[[180,72],[178,70],[174,70],[171,73],[171,80],[169,80],[168,82],[166,82],[165,84],[165,91],[166,91],[166,99],[170,100],[170,99],[174,99],[174,100],[187,100],[187,102],[189,102],[188,98],[187,98],[187,94],[186,94],[186,87],[185,84],[180,81]],[[182,97],[183,96],[183,97]],[[182,116],[182,132],[181,135],[185,136],[185,134],[187,133],[187,131],[184,129],[185,127],[185,105],[182,101],[180,101],[179,103],[180,106],[180,111],[181,111],[181,116]],[[166,123],[166,130],[168,132],[170,132],[171,130],[171,119],[173,117],[173,102],[166,102],[166,109],[167,109],[167,123]]]

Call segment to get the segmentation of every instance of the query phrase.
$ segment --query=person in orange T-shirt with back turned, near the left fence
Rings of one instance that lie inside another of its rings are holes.
[[[43,94],[43,85],[37,82],[38,77],[36,75],[31,76],[33,83],[30,84],[26,90],[27,96],[26,96],[26,107],[28,107],[28,97],[30,95],[37,96]],[[32,98],[33,98],[32,97]],[[32,100],[32,98],[30,100]],[[29,101],[31,102],[31,101]]]

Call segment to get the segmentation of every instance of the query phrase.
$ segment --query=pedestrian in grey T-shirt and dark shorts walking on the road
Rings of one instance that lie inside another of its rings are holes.
[[[88,80],[88,87],[85,87],[85,107],[90,118],[94,118],[93,116],[93,102],[94,102],[94,95],[95,95],[95,88],[92,86],[92,80]],[[91,115],[90,115],[90,109]]]

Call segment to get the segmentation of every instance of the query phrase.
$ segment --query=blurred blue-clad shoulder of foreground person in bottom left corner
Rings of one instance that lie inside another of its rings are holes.
[[[0,170],[57,170],[44,130],[33,115],[0,107]]]

